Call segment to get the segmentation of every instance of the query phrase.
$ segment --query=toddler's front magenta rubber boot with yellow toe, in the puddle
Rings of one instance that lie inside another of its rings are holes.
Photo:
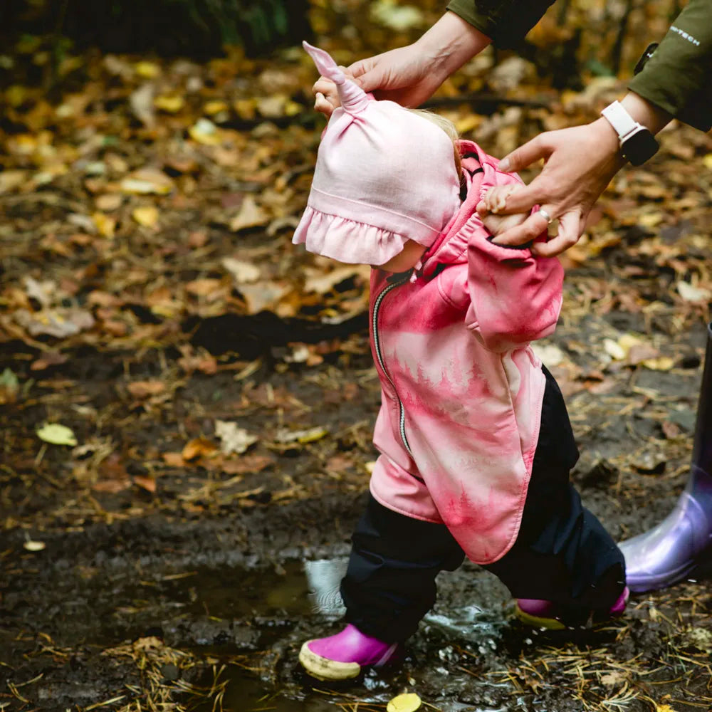
[[[384,643],[348,624],[340,633],[305,642],[299,661],[319,680],[349,680],[359,676],[362,667],[380,667],[392,661],[399,647],[398,643]]]

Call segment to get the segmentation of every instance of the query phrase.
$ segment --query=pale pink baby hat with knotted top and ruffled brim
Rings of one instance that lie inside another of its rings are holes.
[[[341,100],[322,135],[307,208],[292,239],[340,262],[381,265],[407,240],[431,246],[459,209],[450,137],[347,80],[325,51],[303,46]]]

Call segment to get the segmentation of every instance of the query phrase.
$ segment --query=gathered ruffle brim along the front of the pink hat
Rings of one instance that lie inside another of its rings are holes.
[[[403,251],[408,238],[373,225],[330,215],[310,206],[292,242],[347,264],[382,265]]]

